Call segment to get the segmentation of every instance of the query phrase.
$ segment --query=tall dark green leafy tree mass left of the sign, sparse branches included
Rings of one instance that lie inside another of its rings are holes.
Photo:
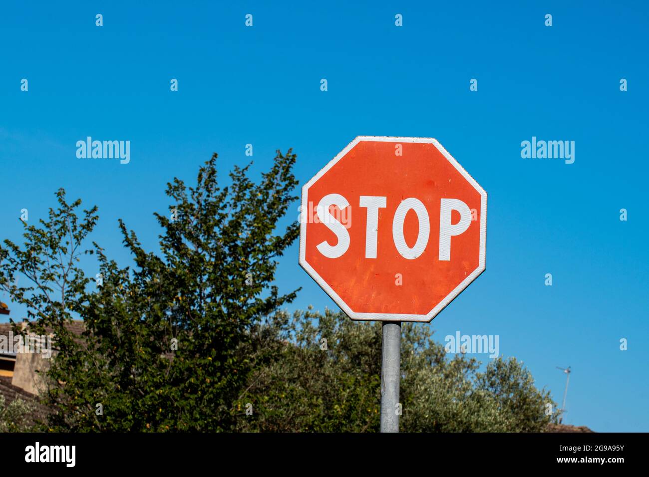
[[[248,374],[269,359],[267,317],[297,293],[273,285],[276,257],[299,234],[297,222],[276,234],[297,197],[291,173],[295,154],[278,151],[259,184],[247,167],[235,167],[231,185],[219,188],[216,160],[187,188],[167,184],[170,215],[162,226],[160,254],[147,252],[120,221],[134,267],[121,268],[104,250],[97,254],[103,280],[75,265],[97,208],[79,221],[80,201],[60,207],[40,226],[25,225],[23,247],[6,240],[0,249],[0,286],[27,306],[34,331],[53,328],[58,354],[47,373],[45,404],[51,430],[229,430]],[[14,285],[27,275],[32,285]],[[53,295],[60,292],[60,297]],[[80,317],[86,332],[66,324]],[[261,323],[265,326],[260,326]],[[273,325],[275,326],[275,325]],[[276,324],[280,326],[280,324]]]

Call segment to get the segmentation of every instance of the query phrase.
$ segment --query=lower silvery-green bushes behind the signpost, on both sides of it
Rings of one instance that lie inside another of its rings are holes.
[[[352,322],[342,312],[295,312],[275,362],[251,375],[239,404],[239,430],[378,432],[381,324]],[[326,339],[326,349],[322,341]],[[429,326],[402,325],[400,429],[404,432],[541,432],[549,392],[537,390],[514,358],[484,372],[474,358],[449,359]]]

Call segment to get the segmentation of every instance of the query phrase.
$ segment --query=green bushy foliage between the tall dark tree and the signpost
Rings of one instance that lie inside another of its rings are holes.
[[[287,313],[280,313],[288,319]],[[239,405],[252,415],[238,429],[261,432],[364,432],[378,428],[381,337],[375,324],[296,312],[278,335],[278,358],[251,374]],[[378,328],[380,330],[380,328]],[[325,340],[325,341],[323,341]]]

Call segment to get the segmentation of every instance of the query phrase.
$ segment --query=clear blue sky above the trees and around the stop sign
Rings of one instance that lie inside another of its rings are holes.
[[[489,194],[487,270],[437,338],[499,335],[558,402],[570,365],[568,423],[648,431],[648,6],[237,3],[5,3],[0,237],[19,239],[21,208],[36,221],[63,186],[99,206],[93,239],[127,264],[117,219],[154,249],[165,182],[193,181],[212,152],[225,175],[252,143],[258,174],[293,147],[304,184],[355,136],[434,137]],[[77,159],[86,136],[130,140],[130,164]],[[522,159],[532,136],[574,140],[574,164]],[[278,285],[303,287],[291,308],[335,307],[297,243]]]

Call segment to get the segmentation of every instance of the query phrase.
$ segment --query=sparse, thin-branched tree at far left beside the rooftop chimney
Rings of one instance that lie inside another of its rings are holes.
[[[67,202],[62,189],[56,192],[56,199],[58,208],[50,208],[47,218],[40,219],[37,225],[21,222],[23,245],[5,239],[5,247],[0,246],[0,289],[7,291],[14,303],[27,309],[27,319],[31,322],[29,328],[23,330],[12,320],[14,334],[23,337],[28,331],[37,335],[55,334],[56,349],[63,351],[57,364],[60,367],[66,367],[68,361],[74,364],[68,368],[69,373],[56,371],[53,374],[63,380],[46,376],[45,387],[51,386],[52,393],[64,389],[66,380],[73,380],[71,373],[82,368],[80,363],[90,355],[67,325],[79,316],[88,300],[86,287],[91,280],[84,275],[80,260],[93,251],[82,245],[99,218],[96,207],[77,214],[81,201]],[[19,277],[22,279],[18,280]],[[23,285],[18,286],[18,281]],[[67,390],[71,391],[70,387]],[[74,392],[87,394],[84,388],[80,390]],[[47,392],[46,389],[42,391]],[[47,399],[47,402],[53,404],[55,401]],[[82,406],[62,409],[75,419],[74,416],[82,415],[90,406],[90,402],[86,402]]]

